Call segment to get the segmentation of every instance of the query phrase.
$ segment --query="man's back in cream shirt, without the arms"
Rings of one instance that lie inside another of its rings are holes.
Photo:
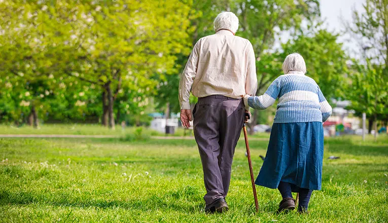
[[[200,39],[197,44],[198,66],[193,95],[239,98],[244,94],[251,43],[228,30],[220,30]]]

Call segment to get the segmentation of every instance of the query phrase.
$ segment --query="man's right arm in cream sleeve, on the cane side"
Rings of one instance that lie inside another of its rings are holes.
[[[246,69],[245,79],[245,94],[255,96],[257,91],[257,76],[256,76],[256,57],[253,51],[252,44],[248,46],[248,67]],[[249,110],[249,105],[244,104],[245,110]]]

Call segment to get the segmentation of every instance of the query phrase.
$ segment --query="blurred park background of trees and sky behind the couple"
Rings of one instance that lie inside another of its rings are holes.
[[[257,95],[299,52],[333,107],[326,136],[361,135],[363,114],[366,133],[386,134],[385,0],[0,0],[0,134],[191,135],[180,75],[222,11],[253,44]],[[270,132],[275,110],[253,110],[249,132]]]

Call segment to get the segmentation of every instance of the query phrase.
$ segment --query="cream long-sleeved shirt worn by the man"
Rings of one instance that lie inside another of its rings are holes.
[[[194,46],[179,84],[181,109],[190,109],[190,89],[196,97],[241,98],[257,90],[252,44],[228,30],[201,38]],[[249,105],[245,104],[249,110]]]

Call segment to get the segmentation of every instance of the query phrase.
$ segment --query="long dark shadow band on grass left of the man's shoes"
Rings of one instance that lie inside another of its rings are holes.
[[[163,195],[151,195],[145,199],[135,200],[109,200],[104,198],[75,197],[69,193],[62,194],[37,194],[34,192],[0,191],[0,205],[29,205],[44,204],[52,206],[66,206],[79,208],[124,208],[142,211],[165,210],[180,211],[184,213],[202,212],[204,202],[195,187],[187,186],[169,191]]]

